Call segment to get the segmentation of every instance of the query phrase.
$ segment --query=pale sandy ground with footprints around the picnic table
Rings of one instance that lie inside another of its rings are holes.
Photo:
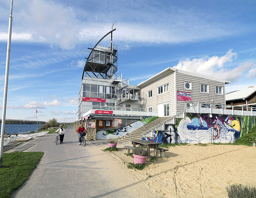
[[[256,184],[255,147],[169,147],[165,158],[148,161],[146,168],[135,171],[121,160],[133,162],[125,155],[125,145],[128,144],[119,141],[119,151],[113,152],[115,155],[109,153],[112,162],[104,156],[114,169],[111,174],[119,178],[118,185],[127,187],[134,197],[227,197],[225,188],[229,184]]]

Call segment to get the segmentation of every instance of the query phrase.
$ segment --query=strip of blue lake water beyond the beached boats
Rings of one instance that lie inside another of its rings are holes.
[[[37,131],[37,124],[34,125],[16,125],[16,124],[5,124],[6,133],[21,133],[29,131]],[[1,131],[1,125],[0,125]]]

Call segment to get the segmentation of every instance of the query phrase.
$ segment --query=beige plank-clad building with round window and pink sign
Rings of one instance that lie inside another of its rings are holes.
[[[196,102],[225,105],[227,83],[230,81],[168,67],[137,86],[141,88],[141,107],[163,117]]]

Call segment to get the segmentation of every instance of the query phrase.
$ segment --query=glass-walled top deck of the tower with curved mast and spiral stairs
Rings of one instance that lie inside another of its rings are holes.
[[[113,45],[112,32],[116,29],[111,30],[105,36],[103,36],[93,48],[89,48],[90,54],[84,66],[83,76],[92,78],[111,79],[115,72],[117,72],[117,45]],[[100,45],[106,36],[111,34],[110,46]]]

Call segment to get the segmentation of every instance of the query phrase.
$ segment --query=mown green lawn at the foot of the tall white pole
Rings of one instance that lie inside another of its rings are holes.
[[[44,152],[3,153],[3,166],[0,168],[0,198],[10,197],[11,193],[25,182]]]

